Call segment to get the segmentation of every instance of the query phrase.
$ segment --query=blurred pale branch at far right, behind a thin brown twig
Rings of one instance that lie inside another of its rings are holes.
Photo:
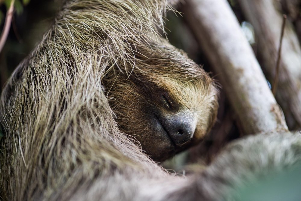
[[[270,80],[275,77],[275,66],[282,14],[280,2],[274,0],[239,0],[248,20],[253,24],[258,41],[258,52]],[[301,127],[301,49],[289,20],[284,30],[276,98],[286,117],[295,119]],[[290,127],[293,122],[288,121]]]

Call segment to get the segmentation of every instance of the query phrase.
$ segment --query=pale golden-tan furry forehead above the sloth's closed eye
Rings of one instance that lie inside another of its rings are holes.
[[[197,64],[191,66],[156,66],[135,74],[135,82],[146,88],[159,89],[187,108],[202,105],[215,91],[214,81]],[[215,94],[214,94],[215,95]]]

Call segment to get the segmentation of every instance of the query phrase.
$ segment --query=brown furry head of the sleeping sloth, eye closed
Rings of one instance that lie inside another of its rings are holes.
[[[147,49],[136,55],[130,75],[111,70],[103,81],[120,130],[138,140],[151,158],[162,161],[209,132],[218,92],[213,80],[184,53],[170,46],[152,48],[154,54]]]

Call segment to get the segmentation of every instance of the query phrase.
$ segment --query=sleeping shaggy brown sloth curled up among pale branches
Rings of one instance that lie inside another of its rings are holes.
[[[193,176],[155,162],[202,140],[217,113],[213,79],[158,34],[172,3],[65,2],[1,95],[2,200],[227,200],[300,162],[290,133],[241,139]]]

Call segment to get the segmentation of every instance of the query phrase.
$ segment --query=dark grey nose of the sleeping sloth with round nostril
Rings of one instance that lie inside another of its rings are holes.
[[[175,145],[180,146],[191,140],[196,123],[193,115],[168,115],[162,120],[162,125]]]

